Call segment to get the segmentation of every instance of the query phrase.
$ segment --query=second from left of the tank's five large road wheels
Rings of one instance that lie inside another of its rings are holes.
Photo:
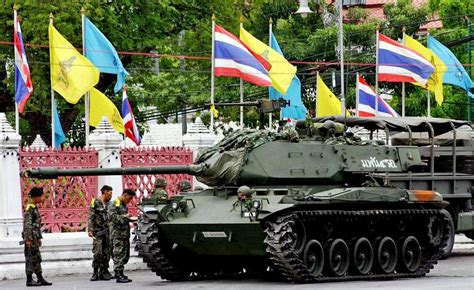
[[[344,276],[349,269],[349,247],[343,239],[332,241],[327,250],[328,270],[333,276]]]

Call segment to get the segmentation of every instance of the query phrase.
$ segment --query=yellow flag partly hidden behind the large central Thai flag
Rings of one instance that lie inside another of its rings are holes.
[[[271,65],[268,74],[272,80],[272,86],[283,95],[286,94],[295,76],[296,67],[270,46],[248,33],[243,27],[240,27],[240,40],[254,53],[268,61]]]

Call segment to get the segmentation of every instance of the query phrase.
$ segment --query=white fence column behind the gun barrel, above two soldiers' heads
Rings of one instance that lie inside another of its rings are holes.
[[[97,128],[90,134],[89,142],[92,148],[99,154],[99,168],[120,168],[120,143],[122,135],[115,131],[107,118],[103,117]],[[110,175],[99,176],[99,190],[104,185],[112,186],[114,189],[112,198],[122,194],[122,176]]]

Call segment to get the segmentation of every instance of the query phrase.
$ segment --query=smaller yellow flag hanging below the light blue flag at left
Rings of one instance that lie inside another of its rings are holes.
[[[115,104],[96,88],[90,90],[89,123],[97,127],[102,117],[106,116],[110,125],[120,133],[124,133],[123,119]]]

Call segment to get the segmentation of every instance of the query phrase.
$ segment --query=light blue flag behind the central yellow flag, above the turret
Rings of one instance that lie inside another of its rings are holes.
[[[283,55],[280,45],[278,45],[278,42],[273,33],[271,47],[276,52]],[[291,118],[300,120],[306,118],[306,113],[308,112],[308,110],[301,101],[301,81],[296,76],[296,74],[293,77],[293,80],[291,81],[290,86],[288,87],[288,90],[286,91],[285,95],[282,95],[273,87],[268,88],[268,93],[270,95],[270,100],[278,100],[279,98],[284,98],[285,100],[290,101],[290,106],[281,109],[281,119]]]

